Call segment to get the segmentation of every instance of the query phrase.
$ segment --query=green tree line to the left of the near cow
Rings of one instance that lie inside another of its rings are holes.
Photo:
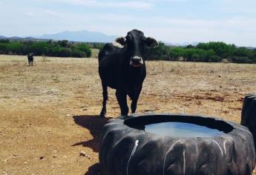
[[[0,54],[27,55],[33,53],[35,56],[60,56],[60,57],[90,57],[91,49],[88,44],[68,42],[67,40],[54,42],[45,41],[10,41],[0,40]]]

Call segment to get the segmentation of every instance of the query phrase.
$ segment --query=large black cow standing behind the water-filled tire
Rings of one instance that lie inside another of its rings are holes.
[[[99,76],[102,80],[103,102],[101,117],[105,117],[108,87],[116,89],[121,115],[128,115],[127,95],[131,98],[131,113],[135,113],[137,100],[146,76],[146,47],[157,47],[158,42],[145,37],[140,30],[131,30],[127,36],[105,44],[99,52]]]

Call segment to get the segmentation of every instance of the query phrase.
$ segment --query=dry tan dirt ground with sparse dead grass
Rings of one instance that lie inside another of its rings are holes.
[[[256,91],[256,65],[147,62],[138,113],[190,113],[240,123]],[[99,174],[99,137],[108,118],[96,59],[0,56],[0,174]],[[84,154],[83,156],[80,153]]]

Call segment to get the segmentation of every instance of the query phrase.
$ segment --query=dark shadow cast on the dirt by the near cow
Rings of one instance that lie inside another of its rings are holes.
[[[99,116],[73,116],[76,125],[87,128],[93,136],[93,139],[85,142],[78,142],[72,146],[83,145],[84,147],[91,148],[94,152],[99,152],[100,135],[102,128],[108,122],[108,119],[112,118],[100,118]]]

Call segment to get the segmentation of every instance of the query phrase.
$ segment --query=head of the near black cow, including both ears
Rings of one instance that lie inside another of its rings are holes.
[[[145,47],[153,48],[158,46],[156,39],[145,37],[140,30],[131,30],[125,37],[118,37],[114,46],[126,47],[129,63],[132,67],[141,67],[145,60]]]

